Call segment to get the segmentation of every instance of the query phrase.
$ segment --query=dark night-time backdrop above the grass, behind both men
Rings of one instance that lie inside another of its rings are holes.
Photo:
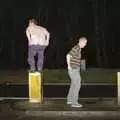
[[[25,34],[31,17],[48,29],[45,68],[66,68],[65,55],[79,36],[88,39],[88,67],[120,67],[120,0],[1,0],[0,68],[28,68]]]

